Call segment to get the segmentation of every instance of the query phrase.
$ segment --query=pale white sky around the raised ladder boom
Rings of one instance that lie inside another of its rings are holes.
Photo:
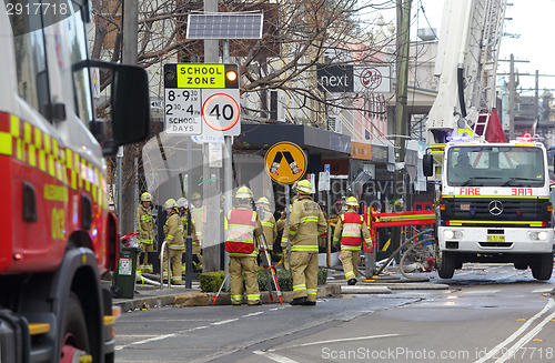
[[[555,77],[542,77],[542,74],[555,75],[555,0],[508,0],[505,11],[504,28],[506,34],[501,42],[500,60],[508,60],[511,53],[517,61],[515,70],[519,73],[535,74],[539,71],[539,94],[543,89],[553,89],[555,94]],[[416,37],[416,28],[427,28],[425,18],[433,28],[437,29],[440,34],[443,0],[413,0],[411,18],[413,26],[411,28],[411,38]],[[424,8],[426,17],[418,9]],[[395,12],[384,11],[384,20],[395,23]],[[416,27],[417,24],[417,27]],[[514,38],[518,36],[518,38]],[[501,61],[498,63],[498,73],[508,73],[509,63]],[[508,81],[508,77],[506,77]],[[534,88],[534,77],[521,75],[519,85],[523,89]],[[497,82],[500,84],[500,80]],[[534,91],[522,92],[522,94],[533,95]]]

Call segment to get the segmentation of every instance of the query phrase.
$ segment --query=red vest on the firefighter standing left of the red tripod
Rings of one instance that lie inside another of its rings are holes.
[[[256,212],[251,210],[234,209],[228,213],[225,251],[244,254],[251,254],[254,251],[256,218]]]

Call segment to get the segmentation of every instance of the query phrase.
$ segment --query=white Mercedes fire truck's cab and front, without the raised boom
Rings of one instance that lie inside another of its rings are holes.
[[[553,206],[546,150],[508,143],[447,142],[437,205],[436,266],[451,279],[464,262],[512,262],[537,280],[553,271]],[[432,175],[430,154],[424,168]],[[427,164],[426,164],[427,163]]]

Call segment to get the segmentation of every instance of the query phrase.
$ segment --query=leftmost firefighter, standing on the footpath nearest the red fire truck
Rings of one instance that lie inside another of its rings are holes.
[[[152,220],[152,195],[149,192],[141,194],[141,202],[137,208],[137,243],[141,246],[142,263],[138,270],[152,273],[152,264],[149,263],[149,252],[154,252],[154,222]],[[139,261],[141,259],[139,258]]]

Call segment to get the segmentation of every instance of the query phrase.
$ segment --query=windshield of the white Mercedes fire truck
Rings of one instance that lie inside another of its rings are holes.
[[[544,152],[536,147],[455,147],[447,154],[452,186],[543,186]]]

